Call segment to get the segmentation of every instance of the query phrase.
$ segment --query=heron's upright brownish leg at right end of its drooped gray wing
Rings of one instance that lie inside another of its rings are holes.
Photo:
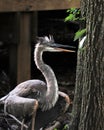
[[[38,101],[35,100],[33,114],[32,114],[32,128],[31,128],[31,130],[35,130],[35,118],[36,118],[37,109],[38,109]]]

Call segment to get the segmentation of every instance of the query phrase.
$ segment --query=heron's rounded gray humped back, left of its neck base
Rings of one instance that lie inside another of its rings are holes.
[[[27,80],[17,85],[10,95],[37,98],[46,92],[46,84],[41,80]]]

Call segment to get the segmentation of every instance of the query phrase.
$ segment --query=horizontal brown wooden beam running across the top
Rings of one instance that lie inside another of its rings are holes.
[[[80,0],[0,0],[0,12],[57,10],[80,7]]]

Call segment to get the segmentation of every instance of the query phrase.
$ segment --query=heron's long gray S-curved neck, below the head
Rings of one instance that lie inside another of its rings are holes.
[[[42,60],[43,51],[36,47],[34,52],[34,60],[37,68],[42,72],[47,84],[46,100],[53,105],[58,99],[58,83],[56,76],[50,66],[46,65]]]

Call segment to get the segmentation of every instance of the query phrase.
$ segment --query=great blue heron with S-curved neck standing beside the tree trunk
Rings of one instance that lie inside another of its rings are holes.
[[[66,109],[70,104],[67,94],[59,91],[56,76],[50,66],[42,60],[45,51],[50,52],[74,52],[63,49],[65,45],[56,44],[52,37],[39,37],[35,46],[34,61],[37,68],[45,77],[46,83],[41,80],[28,80],[17,85],[7,96],[1,98],[4,103],[5,113],[10,113],[22,119],[32,116],[32,130],[35,126],[35,115],[40,107],[46,111],[55,106],[59,95],[66,100]]]

